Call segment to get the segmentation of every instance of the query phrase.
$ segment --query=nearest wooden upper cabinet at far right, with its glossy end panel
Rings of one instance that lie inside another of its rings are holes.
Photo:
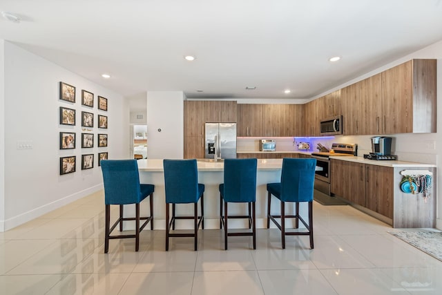
[[[412,59],[382,73],[383,132],[436,132],[436,59]]]

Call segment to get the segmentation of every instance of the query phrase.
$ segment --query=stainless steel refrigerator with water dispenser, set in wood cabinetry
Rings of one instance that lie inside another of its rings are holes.
[[[206,159],[236,158],[236,123],[206,123]]]

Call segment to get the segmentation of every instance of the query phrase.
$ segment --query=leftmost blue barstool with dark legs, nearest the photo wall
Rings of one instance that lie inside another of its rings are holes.
[[[153,230],[153,184],[140,184],[137,160],[102,160],[101,162],[104,181],[104,204],[106,204],[106,229],[104,236],[104,253],[108,253],[109,239],[135,238],[135,251],[140,248],[140,231],[151,222]],[[151,216],[140,217],[140,202],[150,196]],[[111,227],[111,204],[119,205],[119,218]],[[124,218],[123,207],[125,204],[135,204],[135,218]],[[119,231],[123,231],[123,221],[135,220],[134,235],[111,236],[119,223]],[[140,220],[146,220],[140,227]]]

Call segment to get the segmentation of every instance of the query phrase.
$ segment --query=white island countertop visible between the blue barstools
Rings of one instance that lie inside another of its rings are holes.
[[[163,159],[142,159],[137,160],[138,170],[162,172]],[[197,160],[198,171],[223,171],[224,162],[209,162],[209,159]],[[279,170],[282,168],[282,159],[258,159],[258,171]]]

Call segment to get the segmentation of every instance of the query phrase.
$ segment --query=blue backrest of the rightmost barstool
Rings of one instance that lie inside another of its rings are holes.
[[[282,159],[281,201],[313,201],[316,159]]]

